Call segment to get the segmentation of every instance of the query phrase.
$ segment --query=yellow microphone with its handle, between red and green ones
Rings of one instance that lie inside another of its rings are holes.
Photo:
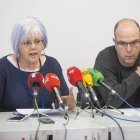
[[[83,84],[87,88],[88,92],[90,93],[91,99],[93,99],[94,102],[96,103],[96,105],[100,108],[98,98],[96,96],[95,91],[92,88],[93,87],[93,80],[92,80],[91,74],[86,69],[81,69],[81,73],[83,76]]]

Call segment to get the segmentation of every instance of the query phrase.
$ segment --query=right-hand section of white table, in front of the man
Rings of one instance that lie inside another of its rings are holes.
[[[134,109],[120,109],[120,111],[124,112],[124,115],[120,114],[120,112],[112,109],[107,109],[106,112],[111,114],[115,117],[120,117],[122,119],[128,119],[139,122],[130,122],[130,121],[124,121],[119,120],[118,123],[122,127],[122,130],[124,132],[124,138],[125,140],[139,140],[140,139],[140,111],[136,111]],[[86,110],[83,111],[81,114],[79,114],[79,117],[84,117],[89,120],[93,120],[95,123],[98,123],[100,125],[103,125],[108,128],[108,132],[111,133],[111,140],[122,140],[122,134],[118,127],[118,125],[109,117],[102,116],[100,113],[95,113],[94,111],[94,119],[92,119],[91,111]]]

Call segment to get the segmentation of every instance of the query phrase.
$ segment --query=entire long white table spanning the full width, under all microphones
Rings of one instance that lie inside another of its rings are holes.
[[[121,109],[124,115],[119,112],[107,109],[115,117],[123,119],[139,120],[139,122],[129,122],[116,119],[122,127],[125,140],[138,140],[140,138],[140,112],[134,109]],[[39,140],[122,140],[121,131],[118,125],[109,117],[102,116],[93,110],[81,110],[76,117],[76,112],[68,112],[69,122],[62,113],[56,112],[49,114],[55,121],[54,124],[40,124]],[[12,112],[0,112],[0,139],[1,140],[34,140],[35,132],[38,126],[36,116],[31,116],[23,122],[8,122],[7,118],[11,117]],[[111,134],[111,137],[108,137]]]

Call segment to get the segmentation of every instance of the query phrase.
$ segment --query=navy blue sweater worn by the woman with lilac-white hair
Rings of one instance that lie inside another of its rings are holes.
[[[58,61],[53,57],[46,57],[41,66],[40,73],[54,73],[60,79],[60,94],[68,95],[68,87],[64,80],[62,69]],[[13,111],[17,108],[33,108],[33,94],[29,88],[27,79],[31,72],[25,72],[16,68],[7,60],[7,56],[0,59],[0,111]],[[52,108],[52,102],[56,99],[55,93],[46,88],[39,91],[39,108]]]

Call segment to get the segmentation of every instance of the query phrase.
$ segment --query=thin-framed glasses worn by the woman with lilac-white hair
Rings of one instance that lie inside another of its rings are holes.
[[[25,41],[22,42],[22,45],[24,45],[26,47],[31,47],[32,44],[34,44],[35,46],[40,46],[40,45],[42,45],[42,40],[41,39],[35,39],[34,41],[25,40]]]

